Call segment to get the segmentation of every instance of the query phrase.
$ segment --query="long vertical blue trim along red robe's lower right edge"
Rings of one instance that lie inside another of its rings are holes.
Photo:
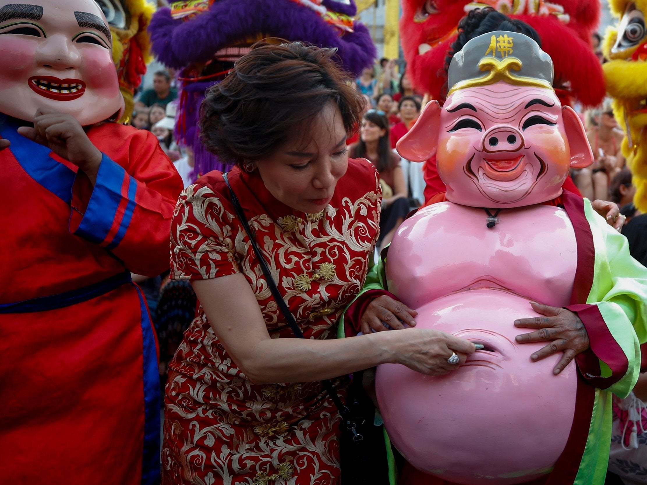
[[[142,457],[142,485],[160,482],[160,378],[153,325],[146,307],[146,299],[138,286],[137,294],[142,310],[142,340],[144,343],[144,455]]]

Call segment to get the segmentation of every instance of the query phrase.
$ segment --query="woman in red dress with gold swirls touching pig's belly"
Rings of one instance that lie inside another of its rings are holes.
[[[223,175],[208,173],[171,228],[171,277],[191,280],[201,305],[169,365],[164,484],[336,484],[340,418],[320,380],[385,362],[439,375],[457,368],[452,351],[474,351],[419,329],[334,339],[364,283],[381,194],[375,167],[347,158],[361,102],[333,56],[257,45],[204,102],[204,142],[236,162],[229,182],[305,339],[272,299]],[[382,298],[382,320],[415,325]]]

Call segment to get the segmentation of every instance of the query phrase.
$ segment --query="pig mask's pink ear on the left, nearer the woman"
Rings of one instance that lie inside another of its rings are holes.
[[[400,156],[411,162],[429,160],[436,153],[440,122],[441,107],[438,102],[427,103],[415,125],[395,146]]]

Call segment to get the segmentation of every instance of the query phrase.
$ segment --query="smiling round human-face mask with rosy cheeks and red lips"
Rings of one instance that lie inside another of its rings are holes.
[[[82,125],[120,115],[111,36],[93,0],[0,0],[0,111],[30,121],[39,107]]]

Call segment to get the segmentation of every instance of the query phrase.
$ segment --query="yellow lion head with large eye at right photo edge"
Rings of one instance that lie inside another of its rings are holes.
[[[635,205],[647,211],[647,0],[609,0],[620,21],[609,27],[602,65],[606,88],[615,98],[613,111],[624,129],[622,153],[637,188]]]

